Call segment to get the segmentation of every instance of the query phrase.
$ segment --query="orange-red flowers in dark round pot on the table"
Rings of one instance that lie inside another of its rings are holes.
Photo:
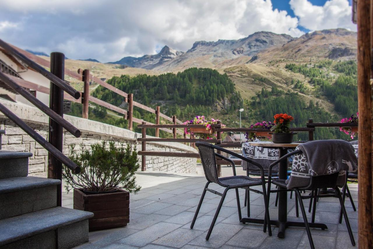
[[[290,132],[290,122],[294,120],[294,118],[288,114],[276,114],[273,116],[275,124],[272,126],[271,131],[272,134],[272,142],[276,144],[289,144],[293,141],[294,133]]]

